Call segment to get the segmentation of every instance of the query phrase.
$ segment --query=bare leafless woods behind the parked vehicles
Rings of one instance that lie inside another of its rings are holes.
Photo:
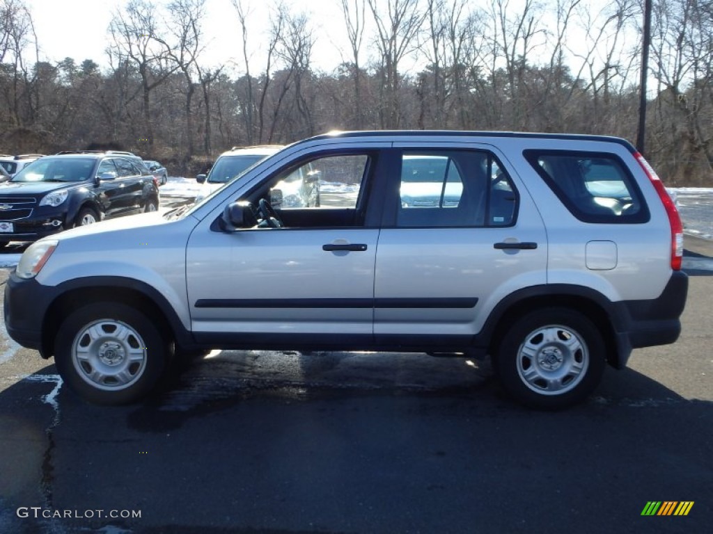
[[[114,147],[190,176],[334,129],[637,137],[643,0],[330,0],[348,43],[332,70],[312,64],[335,45],[309,14],[264,1],[267,24],[249,0],[225,14],[237,66],[205,59],[207,0],[128,1],[99,66],[41,57],[26,4],[0,0],[0,152]],[[653,0],[649,70],[647,159],[667,185],[713,187],[713,0]]]

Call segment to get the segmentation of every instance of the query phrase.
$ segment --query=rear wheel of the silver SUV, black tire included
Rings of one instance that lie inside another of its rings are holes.
[[[605,344],[585,315],[545,308],[515,320],[493,362],[503,387],[537,409],[583,402],[602,379]]]

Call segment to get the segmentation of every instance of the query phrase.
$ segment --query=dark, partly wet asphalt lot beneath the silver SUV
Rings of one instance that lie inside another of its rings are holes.
[[[705,252],[679,341],[559,413],[513,404],[487,363],[331,352],[216,352],[96,407],[0,333],[0,533],[707,532]]]

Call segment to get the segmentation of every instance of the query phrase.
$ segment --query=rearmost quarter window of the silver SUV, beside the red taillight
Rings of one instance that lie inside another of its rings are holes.
[[[527,150],[524,155],[580,221],[635,224],[649,220],[641,191],[619,157],[537,150]]]

